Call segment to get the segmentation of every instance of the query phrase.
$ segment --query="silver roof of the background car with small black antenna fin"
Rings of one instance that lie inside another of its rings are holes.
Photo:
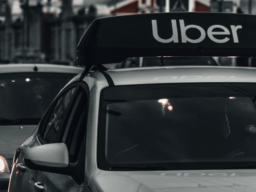
[[[35,66],[37,71],[34,70]],[[84,70],[83,67],[53,65],[53,64],[3,64],[0,65],[0,73],[26,73],[26,72],[44,72],[44,73],[69,73],[79,74]]]

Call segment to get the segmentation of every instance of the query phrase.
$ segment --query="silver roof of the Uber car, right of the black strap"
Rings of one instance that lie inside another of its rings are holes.
[[[223,66],[163,66],[107,71],[115,85],[161,83],[255,83],[256,68]]]

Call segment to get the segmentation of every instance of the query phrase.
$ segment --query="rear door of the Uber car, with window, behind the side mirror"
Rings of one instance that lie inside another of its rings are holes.
[[[57,98],[52,102],[47,112],[39,123],[38,131],[25,140],[14,156],[12,176],[10,180],[9,191],[36,191],[38,172],[28,169],[24,163],[25,153],[36,146],[49,143],[57,143],[62,140],[64,131],[68,124],[68,117],[76,103],[78,93],[78,84],[70,84],[65,88]],[[40,139],[45,138],[46,140]]]

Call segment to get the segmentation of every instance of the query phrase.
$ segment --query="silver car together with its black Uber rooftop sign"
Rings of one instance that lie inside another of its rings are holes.
[[[256,68],[103,66],[252,57],[255,25],[255,15],[225,13],[95,20],[77,46],[84,72],[16,151],[9,192],[255,191]]]

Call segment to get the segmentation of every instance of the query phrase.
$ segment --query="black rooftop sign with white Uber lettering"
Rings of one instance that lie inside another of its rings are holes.
[[[256,15],[170,12],[93,21],[78,44],[80,65],[150,56],[256,56]]]

